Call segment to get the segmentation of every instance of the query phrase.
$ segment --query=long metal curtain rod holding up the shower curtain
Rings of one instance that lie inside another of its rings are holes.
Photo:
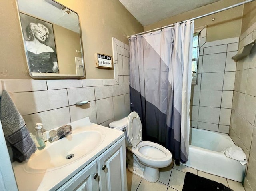
[[[234,7],[237,7],[237,6],[240,6],[240,5],[243,5],[243,4],[246,4],[246,3],[249,3],[249,2],[252,2],[254,0],[246,0],[244,2],[240,2],[238,4],[234,4],[232,6],[229,6],[229,7],[226,7],[226,8],[222,8],[220,10],[216,10],[214,12],[210,12],[210,13],[207,13],[207,14],[204,14],[204,15],[201,15],[201,16],[198,16],[198,17],[194,17],[190,20],[196,20],[196,19],[199,19],[199,18],[203,18],[203,17],[206,17],[206,16],[209,16],[209,15],[212,15],[212,14],[215,14],[215,13],[218,13],[218,12],[222,12],[222,11],[225,11],[225,10],[228,10],[228,9],[231,9],[231,8],[234,8]],[[184,21],[180,21],[179,23],[183,23],[183,22],[187,22],[187,20],[184,20]],[[156,31],[156,30],[160,30],[160,29],[163,29],[163,28],[166,28],[166,27],[170,27],[170,26],[174,26],[174,24],[170,24],[170,25],[167,25],[167,26],[162,26],[162,27],[159,27],[159,28],[155,28],[155,29],[152,29],[152,30],[148,30],[148,31],[145,31],[145,32],[140,32],[140,33],[137,33],[137,34],[134,34],[134,35],[130,35],[130,36],[127,36],[127,38],[130,38],[132,36],[136,36],[138,34],[145,34],[145,33],[148,33],[148,32],[152,32],[152,31]]]

